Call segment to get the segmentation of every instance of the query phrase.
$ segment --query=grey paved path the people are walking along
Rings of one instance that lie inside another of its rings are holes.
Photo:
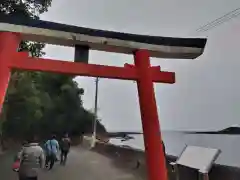
[[[11,170],[13,153],[0,155],[1,180],[17,180]],[[52,171],[43,170],[39,180],[136,180],[131,174],[114,167],[111,159],[82,148],[73,148],[66,166],[56,164]]]

